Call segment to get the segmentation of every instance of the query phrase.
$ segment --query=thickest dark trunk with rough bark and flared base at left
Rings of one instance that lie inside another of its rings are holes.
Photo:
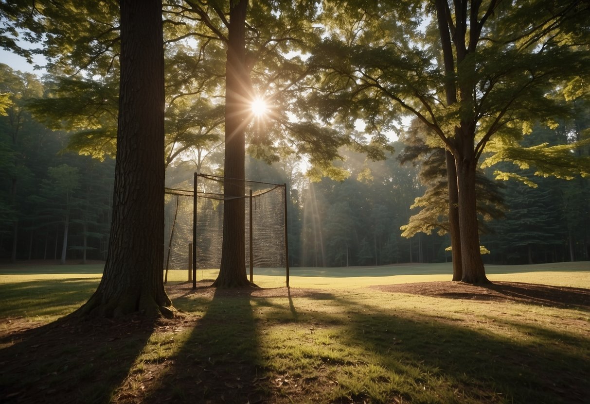
[[[162,279],[162,1],[120,0],[120,8],[119,122],[109,254],[99,287],[80,312],[172,317]]]

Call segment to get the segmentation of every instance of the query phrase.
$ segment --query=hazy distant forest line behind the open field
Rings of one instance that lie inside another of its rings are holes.
[[[52,131],[37,122],[26,108],[27,98],[42,97],[44,83],[35,75],[2,66],[2,92],[18,95],[0,117],[2,142],[2,230],[0,258],[3,260],[47,259],[104,260],[110,227],[114,160],[98,161],[89,156],[64,153],[70,134]],[[12,87],[11,87],[12,86]],[[30,94],[27,91],[36,89]],[[590,118],[581,117],[588,121]],[[14,134],[9,136],[9,134]],[[407,135],[406,135],[407,136]],[[568,141],[566,125],[560,130],[535,128],[524,145]],[[370,161],[358,151],[343,151],[337,163],[350,177],[338,181],[324,177],[309,181],[295,159],[268,165],[248,157],[247,178],[286,182],[291,188],[289,240],[291,266],[363,266],[406,262],[444,262],[450,240],[443,223],[434,234],[418,231],[402,237],[417,209],[410,206],[428,184],[421,183],[422,167],[431,155],[400,164],[399,154],[409,144],[398,141],[385,161]],[[589,154],[588,150],[579,153]],[[17,159],[13,157],[18,155]],[[220,173],[223,147],[201,161],[199,170]],[[9,158],[10,157],[10,158]],[[16,165],[13,162],[18,162]],[[171,165],[168,184],[181,182],[196,164]],[[496,167],[497,168],[497,167]],[[535,178],[532,170],[519,171],[538,187],[507,181],[500,190],[505,217],[485,222],[481,240],[490,254],[485,263],[523,264],[588,260],[590,252],[590,184],[587,178],[571,181]],[[18,188],[9,175],[18,175]],[[494,181],[493,170],[486,177]],[[422,181],[424,182],[424,181]],[[497,183],[497,181],[495,181]],[[13,202],[14,201],[14,202]],[[18,220],[17,243],[14,224]],[[484,222],[483,217],[480,221]]]

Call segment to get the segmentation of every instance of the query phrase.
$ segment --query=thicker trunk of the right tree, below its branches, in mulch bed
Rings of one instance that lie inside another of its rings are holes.
[[[474,284],[489,283],[483,261],[481,260],[477,226],[477,161],[474,158],[469,158],[468,150],[468,147],[464,148],[463,151],[466,156],[456,161],[459,196],[459,231],[461,233],[461,263],[463,267],[461,281]]]

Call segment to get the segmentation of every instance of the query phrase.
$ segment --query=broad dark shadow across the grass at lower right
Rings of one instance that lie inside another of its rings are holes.
[[[378,355],[382,366],[413,377],[424,390],[437,389],[441,377],[453,380],[455,396],[441,402],[582,403],[590,398],[588,356],[560,345],[584,347],[588,339],[506,322],[541,341],[527,343],[435,317],[416,320],[370,305],[341,303],[351,314],[349,332],[342,336],[348,345]],[[382,324],[388,324],[386,329]],[[395,391],[392,398],[411,400],[415,394],[419,392]]]

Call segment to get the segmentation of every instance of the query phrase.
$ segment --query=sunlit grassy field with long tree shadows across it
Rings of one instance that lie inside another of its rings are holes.
[[[293,269],[290,289],[194,291],[178,271],[177,319],[64,318],[101,269],[0,266],[0,402],[590,398],[588,262],[487,266],[489,287],[447,282],[450,264]]]

